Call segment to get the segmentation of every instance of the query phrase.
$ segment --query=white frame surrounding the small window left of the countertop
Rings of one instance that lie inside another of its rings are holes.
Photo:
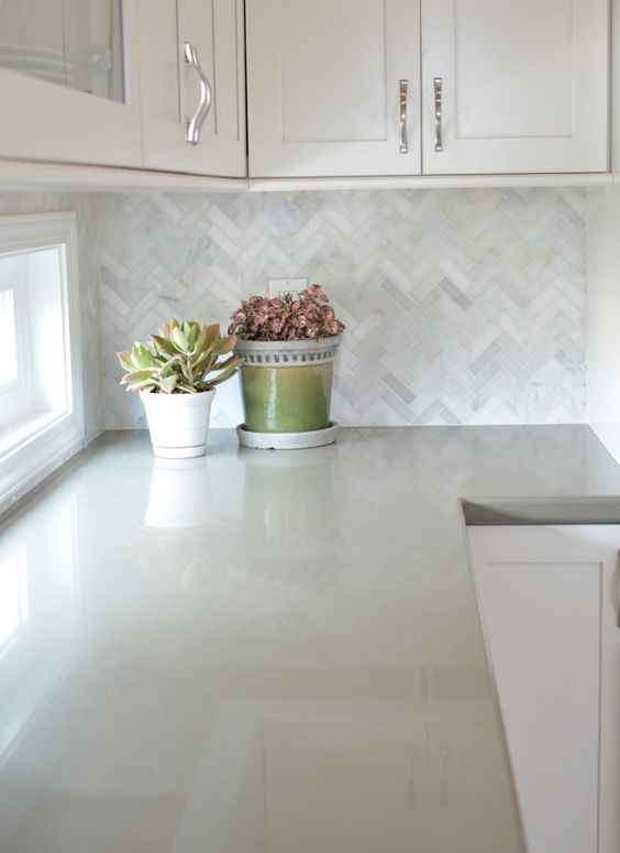
[[[0,508],[34,485],[85,442],[79,322],[77,221],[74,211],[0,216],[0,255],[59,248],[65,411],[0,425]],[[29,310],[36,306],[29,305]],[[32,315],[29,315],[32,318]],[[18,335],[23,335],[16,318]],[[18,341],[18,351],[21,349]],[[19,357],[18,357],[19,358]],[[27,367],[25,368],[27,373]],[[0,395],[0,406],[2,405]]]

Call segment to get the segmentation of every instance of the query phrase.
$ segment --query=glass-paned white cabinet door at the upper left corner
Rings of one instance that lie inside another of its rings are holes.
[[[136,0],[3,0],[0,157],[140,166]]]

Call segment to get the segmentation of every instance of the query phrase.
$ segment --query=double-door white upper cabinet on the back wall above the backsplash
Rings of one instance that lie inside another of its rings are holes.
[[[246,8],[252,177],[608,169],[607,0]]]

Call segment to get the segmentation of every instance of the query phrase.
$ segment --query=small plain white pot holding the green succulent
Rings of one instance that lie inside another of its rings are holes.
[[[140,392],[155,456],[187,459],[207,451],[207,429],[215,389],[199,394]]]

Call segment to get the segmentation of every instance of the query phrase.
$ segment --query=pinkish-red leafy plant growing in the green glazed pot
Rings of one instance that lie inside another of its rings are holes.
[[[231,320],[229,335],[245,340],[317,340],[344,329],[320,284],[273,298],[252,296]]]

